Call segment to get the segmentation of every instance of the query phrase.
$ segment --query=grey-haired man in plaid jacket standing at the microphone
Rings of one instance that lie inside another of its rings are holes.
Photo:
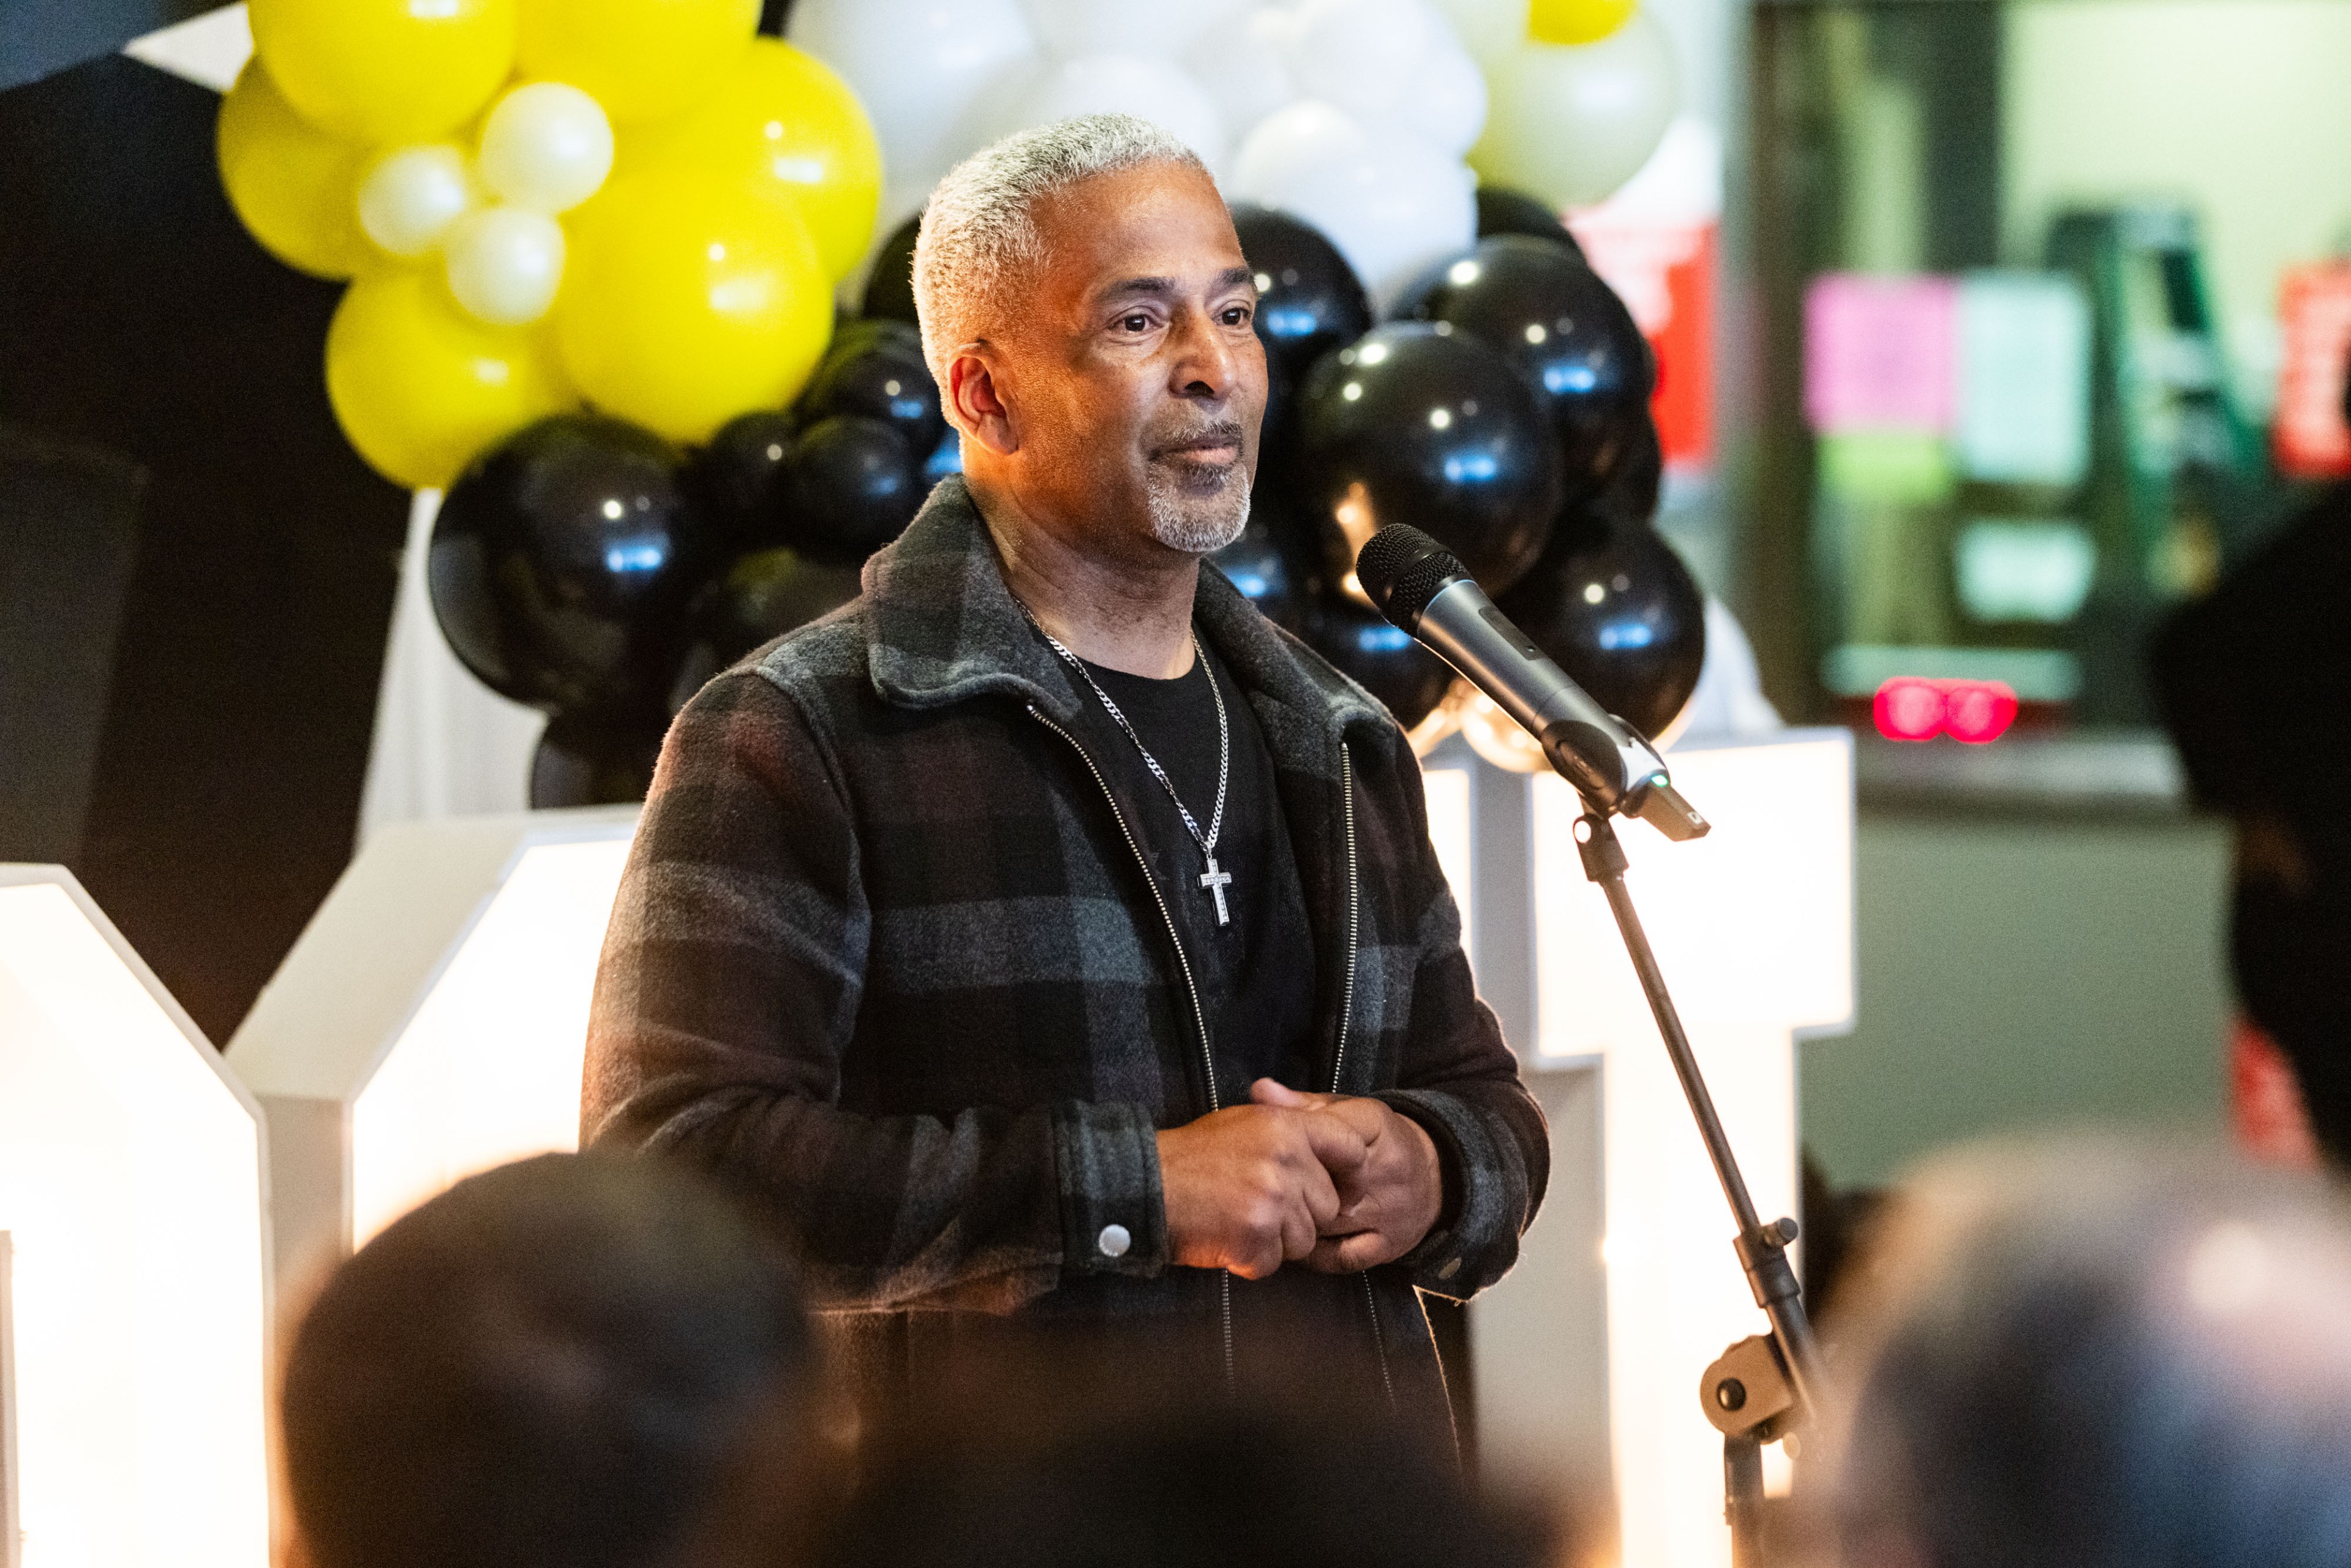
[[[1415,1286],[1502,1276],[1545,1126],[1404,733],[1201,571],[1265,411],[1225,202],[1143,120],[1025,132],[915,299],[964,477],[670,729],[583,1133],[759,1194],[882,1410],[1084,1328],[1444,1429]]]

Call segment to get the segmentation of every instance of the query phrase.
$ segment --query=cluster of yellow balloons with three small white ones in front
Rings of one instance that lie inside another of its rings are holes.
[[[668,440],[799,393],[882,153],[759,0],[252,0],[221,181],[275,256],[350,277],[327,393],[442,487],[592,407]]]

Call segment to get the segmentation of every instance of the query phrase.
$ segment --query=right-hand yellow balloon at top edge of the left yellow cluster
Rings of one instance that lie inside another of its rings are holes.
[[[759,0],[522,0],[522,73],[583,87],[616,122],[701,101],[743,59]]]

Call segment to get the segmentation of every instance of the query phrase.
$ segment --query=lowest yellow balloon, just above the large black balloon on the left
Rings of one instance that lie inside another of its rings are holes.
[[[350,284],[327,327],[327,400],[367,465],[449,484],[482,447],[578,402],[536,327],[489,327],[423,270]]]

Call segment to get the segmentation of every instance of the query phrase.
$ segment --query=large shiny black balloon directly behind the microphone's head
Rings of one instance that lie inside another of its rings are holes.
[[[1298,395],[1293,494],[1333,576],[1408,522],[1488,592],[1535,564],[1559,505],[1559,451],[1533,388],[1444,324],[1396,322],[1326,357]]]

